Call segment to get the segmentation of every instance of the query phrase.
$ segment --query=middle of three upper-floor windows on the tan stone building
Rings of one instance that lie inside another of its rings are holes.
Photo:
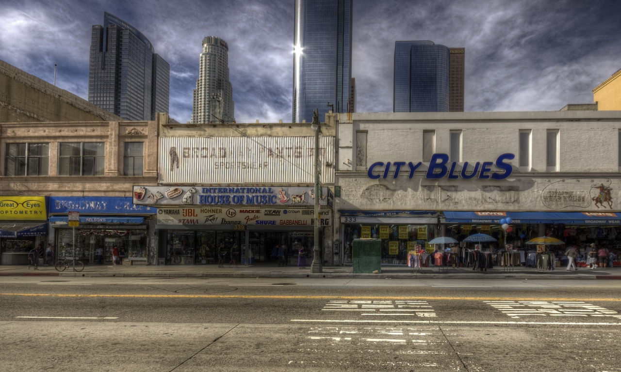
[[[58,175],[104,175],[104,142],[60,143]]]

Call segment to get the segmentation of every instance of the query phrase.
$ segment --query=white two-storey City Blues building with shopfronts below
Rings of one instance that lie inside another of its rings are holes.
[[[338,126],[340,263],[351,262],[356,237],[379,237],[383,263],[406,264],[414,246],[442,249],[428,245],[433,237],[474,249],[463,240],[475,232],[497,239],[481,247],[491,252],[528,257],[537,246],[525,242],[551,236],[565,242],[543,247],[557,258],[573,244],[582,254],[590,243],[619,254],[615,112],[353,113]]]

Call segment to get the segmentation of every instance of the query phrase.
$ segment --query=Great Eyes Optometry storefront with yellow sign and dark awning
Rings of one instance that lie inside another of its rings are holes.
[[[27,265],[48,234],[47,197],[0,196],[0,264]]]

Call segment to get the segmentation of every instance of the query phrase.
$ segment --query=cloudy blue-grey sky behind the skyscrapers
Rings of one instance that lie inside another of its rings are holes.
[[[357,112],[392,111],[394,42],[465,47],[466,111],[592,102],[621,68],[618,0],[353,0]],[[187,122],[204,36],[229,44],[235,118],[291,122],[294,0],[0,0],[0,60],[88,99],[91,26],[104,11],[170,63],[170,115]]]

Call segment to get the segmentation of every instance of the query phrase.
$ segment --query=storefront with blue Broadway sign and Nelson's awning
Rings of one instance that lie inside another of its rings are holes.
[[[74,229],[68,226],[69,211],[80,214],[75,247]],[[117,246],[132,265],[147,265],[148,225],[155,222],[155,213],[155,208],[134,205],[131,197],[50,197],[49,221],[57,257],[78,257],[91,264],[111,263],[112,247]]]

